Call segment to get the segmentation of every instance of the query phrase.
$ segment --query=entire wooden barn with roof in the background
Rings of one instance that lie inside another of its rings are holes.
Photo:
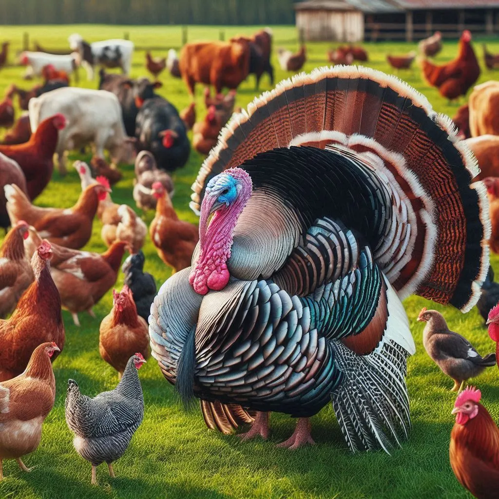
[[[499,0],[306,0],[295,3],[304,40],[419,40],[499,33]]]

